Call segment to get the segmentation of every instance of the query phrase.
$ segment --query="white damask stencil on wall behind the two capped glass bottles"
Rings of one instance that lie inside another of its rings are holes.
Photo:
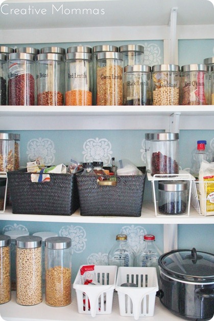
[[[129,245],[135,253],[144,249],[144,235],[147,234],[147,231],[144,227],[134,225],[124,226],[120,233],[127,235]]]

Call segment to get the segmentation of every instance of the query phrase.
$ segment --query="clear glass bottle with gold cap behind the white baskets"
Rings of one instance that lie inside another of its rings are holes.
[[[108,264],[116,266],[134,266],[134,251],[127,241],[127,235],[116,235],[116,242],[108,254]]]

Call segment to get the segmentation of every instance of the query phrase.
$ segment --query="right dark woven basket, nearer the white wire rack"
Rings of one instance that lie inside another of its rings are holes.
[[[80,214],[83,216],[140,216],[146,167],[143,175],[116,176],[116,186],[100,186],[97,176],[77,175]]]

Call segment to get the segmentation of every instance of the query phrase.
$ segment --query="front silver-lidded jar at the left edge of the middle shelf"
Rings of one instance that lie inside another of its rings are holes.
[[[0,171],[14,170],[13,134],[0,133]]]

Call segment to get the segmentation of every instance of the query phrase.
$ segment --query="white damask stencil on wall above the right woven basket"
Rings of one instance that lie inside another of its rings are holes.
[[[104,166],[111,160],[111,143],[106,138],[89,138],[83,144],[84,162],[102,161]]]

